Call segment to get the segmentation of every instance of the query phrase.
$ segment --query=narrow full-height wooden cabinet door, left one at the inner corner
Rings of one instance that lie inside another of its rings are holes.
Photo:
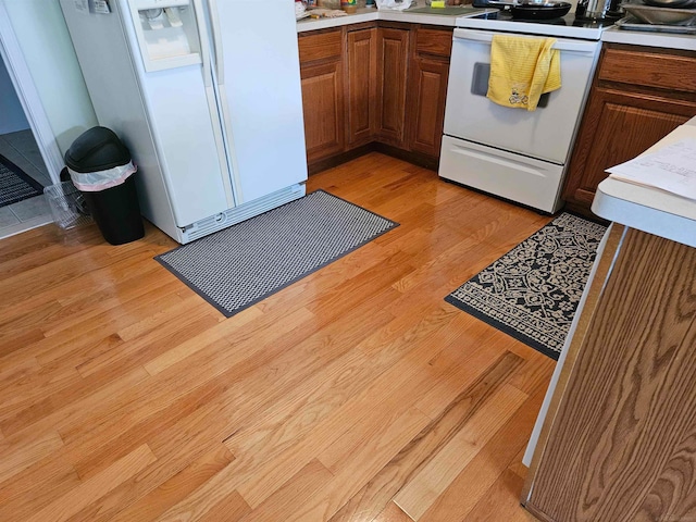
[[[376,127],[377,29],[352,30],[347,37],[347,146],[372,141]]]

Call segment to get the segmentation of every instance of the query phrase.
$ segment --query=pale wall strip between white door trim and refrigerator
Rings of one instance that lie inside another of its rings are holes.
[[[61,153],[97,125],[59,0],[4,2]]]

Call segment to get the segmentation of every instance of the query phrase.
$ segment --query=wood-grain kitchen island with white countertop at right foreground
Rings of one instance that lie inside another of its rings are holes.
[[[696,119],[646,152],[684,137]],[[696,520],[696,201],[609,178],[593,210],[613,223],[522,502],[546,521]]]

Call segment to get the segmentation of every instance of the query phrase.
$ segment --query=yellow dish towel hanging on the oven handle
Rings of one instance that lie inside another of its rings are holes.
[[[561,86],[556,38],[494,35],[488,99],[505,107],[536,110],[539,97]]]

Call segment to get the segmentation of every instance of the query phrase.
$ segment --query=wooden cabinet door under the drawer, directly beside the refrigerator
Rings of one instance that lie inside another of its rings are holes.
[[[341,62],[303,66],[300,76],[307,161],[311,163],[344,149]]]

